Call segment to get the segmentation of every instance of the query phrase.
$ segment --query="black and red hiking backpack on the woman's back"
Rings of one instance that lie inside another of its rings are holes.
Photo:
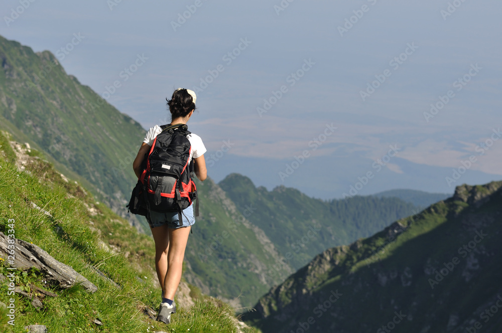
[[[146,156],[146,168],[128,207],[131,213],[144,216],[151,210],[178,212],[181,222],[182,211],[194,200],[194,216],[199,216],[197,189],[190,177],[193,158],[188,163],[192,147],[187,135],[191,132],[185,124],[163,125],[161,129]]]

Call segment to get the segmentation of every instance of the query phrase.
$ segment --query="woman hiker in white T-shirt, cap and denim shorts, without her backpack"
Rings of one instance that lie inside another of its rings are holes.
[[[177,89],[170,100],[166,98],[171,112],[171,124],[187,123],[195,110],[196,98],[192,90],[182,88]],[[143,140],[143,144],[133,162],[133,169],[138,179],[143,172],[141,170],[143,159],[160,132],[162,132],[160,126],[155,125],[150,128]],[[203,155],[206,148],[198,135],[192,133],[187,138],[192,146],[188,162],[190,163],[193,158],[195,175],[200,181],[204,181],[207,177],[206,162]],[[176,313],[174,294],[181,280],[185,248],[195,218],[192,206],[183,210],[182,223],[179,223],[177,212],[159,213],[151,211],[149,215],[150,218],[147,218],[147,220],[155,240],[155,267],[162,287],[162,302],[157,320],[169,323],[171,313]]]

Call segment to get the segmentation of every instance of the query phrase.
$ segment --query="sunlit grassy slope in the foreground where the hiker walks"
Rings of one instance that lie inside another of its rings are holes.
[[[14,153],[5,142],[6,138],[0,136],[4,150],[4,158],[0,158],[0,231],[6,233],[8,219],[15,219],[17,238],[40,246],[98,287],[93,294],[78,287],[60,290],[43,283],[35,271],[26,276],[17,272],[17,286],[34,283],[54,291],[58,297],[45,298],[44,308],[37,310],[16,294],[15,332],[25,331],[25,325],[34,323],[49,326],[53,333],[186,331],[187,328],[204,332],[236,331],[228,315],[228,306],[203,298],[193,307],[173,315],[169,328],[150,320],[142,308],[156,308],[160,290],[154,283],[152,239],[139,234],[105,205],[96,203],[80,186],[65,182],[42,159],[36,159],[29,173],[19,173],[15,165],[7,161]],[[49,211],[53,217],[33,209],[31,202]],[[86,205],[96,209],[98,214],[91,215]],[[97,267],[121,289],[96,274],[90,266]],[[0,271],[6,274],[4,264],[0,265]],[[0,300],[5,303],[7,291],[7,286],[2,284]],[[0,312],[0,320],[5,323],[5,313]],[[96,318],[103,322],[102,326],[93,323]],[[10,326],[2,326],[9,331]]]

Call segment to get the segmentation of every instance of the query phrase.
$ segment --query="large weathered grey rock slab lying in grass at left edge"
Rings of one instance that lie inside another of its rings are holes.
[[[7,258],[9,253],[8,237],[0,232],[0,254]],[[16,260],[11,263],[11,267],[21,270],[37,268],[43,272],[49,281],[53,281],[63,289],[70,288],[80,283],[87,291],[95,292],[97,287],[85,277],[77,273],[73,268],[65,265],[35,244],[28,243],[21,239],[16,239]]]

